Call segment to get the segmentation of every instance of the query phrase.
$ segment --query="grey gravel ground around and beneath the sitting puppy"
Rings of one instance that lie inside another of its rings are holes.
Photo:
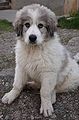
[[[79,52],[79,31],[58,29],[62,43],[72,53]],[[4,105],[1,98],[12,88],[15,67],[15,33],[0,31],[0,120],[79,120],[79,88],[67,93],[57,94],[52,119],[39,115],[39,90],[28,88],[11,104]]]

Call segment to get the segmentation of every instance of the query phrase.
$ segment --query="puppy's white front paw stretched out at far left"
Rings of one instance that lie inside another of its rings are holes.
[[[4,104],[11,104],[14,99],[17,97],[17,94],[14,90],[11,90],[10,92],[6,93],[3,98],[2,98],[2,102]]]

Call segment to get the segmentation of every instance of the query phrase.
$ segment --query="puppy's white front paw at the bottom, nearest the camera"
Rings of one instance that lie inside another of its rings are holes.
[[[42,113],[44,114],[45,117],[53,115],[54,109],[50,101],[41,103],[40,114]]]

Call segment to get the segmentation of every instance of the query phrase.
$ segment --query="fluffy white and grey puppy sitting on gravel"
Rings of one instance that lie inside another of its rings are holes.
[[[40,87],[40,113],[54,112],[56,93],[79,85],[79,67],[60,43],[55,14],[44,6],[25,6],[16,14],[16,68],[13,88],[2,98],[12,103],[32,79]]]

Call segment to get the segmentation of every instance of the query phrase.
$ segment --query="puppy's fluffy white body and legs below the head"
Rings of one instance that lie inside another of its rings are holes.
[[[29,79],[41,86],[40,113],[44,113],[44,116],[50,116],[54,112],[52,104],[56,102],[56,92],[65,92],[79,85],[79,67],[61,45],[56,32],[52,39],[41,46],[30,47],[17,40],[13,89],[6,93],[2,102],[10,104]]]

